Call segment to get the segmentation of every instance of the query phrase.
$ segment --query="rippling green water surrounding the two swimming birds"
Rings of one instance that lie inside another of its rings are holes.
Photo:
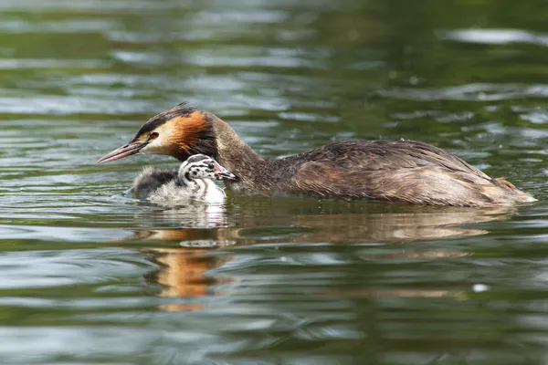
[[[181,101],[265,157],[412,139],[515,210],[126,195]],[[540,0],[0,2],[2,364],[544,364]],[[546,265],[546,266],[545,266]]]

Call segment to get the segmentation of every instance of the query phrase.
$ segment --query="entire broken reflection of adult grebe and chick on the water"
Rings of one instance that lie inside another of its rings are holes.
[[[184,222],[186,228],[143,229],[134,231],[127,240],[150,242],[163,247],[143,248],[160,268],[147,276],[147,281],[159,284],[160,297],[177,298],[163,310],[201,310],[200,297],[227,295],[219,285],[234,282],[229,277],[208,275],[210,270],[224,266],[236,255],[211,255],[212,249],[258,244],[402,244],[417,240],[439,240],[471,235],[485,235],[488,231],[464,224],[504,220],[513,213],[508,209],[411,208],[402,205],[379,212],[378,206],[367,205],[354,209],[352,204],[311,204],[296,207],[265,200],[258,204],[233,204],[227,207],[200,206],[190,210],[175,209],[147,214],[146,225],[173,226]],[[381,209],[382,210],[382,209]],[[143,227],[144,228],[144,227]],[[165,244],[176,243],[176,246]],[[418,250],[402,247],[389,254],[361,255],[362,259],[424,259],[436,260],[471,255],[470,252],[448,249]],[[346,293],[350,297],[443,297],[457,295],[449,291],[409,290]],[[324,293],[326,296],[343,293]]]

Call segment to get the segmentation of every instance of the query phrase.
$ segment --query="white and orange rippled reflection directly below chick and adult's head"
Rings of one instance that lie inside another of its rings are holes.
[[[227,255],[206,255],[204,248],[235,245],[234,240],[219,238],[217,230],[227,229],[224,205],[190,204],[176,209],[140,214],[144,225],[180,226],[182,222],[191,228],[156,229],[133,231],[124,241],[177,242],[178,247],[148,247],[142,252],[151,254],[151,260],[160,268],[145,277],[150,284],[159,284],[159,297],[180,298],[182,302],[169,303],[159,308],[165,311],[196,311],[203,305],[195,299],[218,296],[213,287],[227,280],[208,277],[209,269],[222,266],[231,259]]]

